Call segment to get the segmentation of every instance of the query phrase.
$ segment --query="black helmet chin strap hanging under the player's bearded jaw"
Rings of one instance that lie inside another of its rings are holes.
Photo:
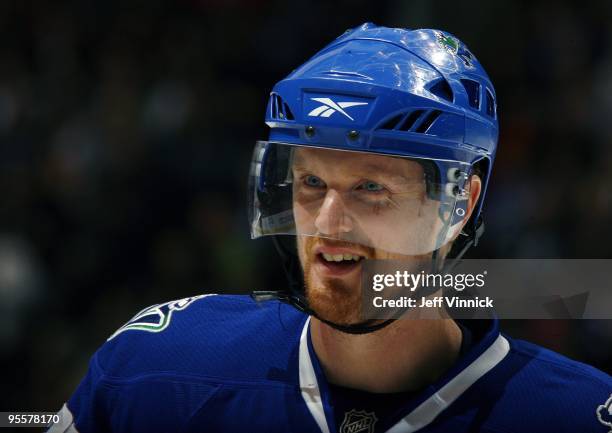
[[[476,246],[478,244],[478,240],[480,239],[483,233],[484,223],[482,221],[482,218],[479,218],[478,222],[476,223],[476,228],[472,231],[472,233],[461,232],[459,237],[453,243],[447,257],[440,257],[439,249],[432,252],[432,269],[440,269],[442,272],[450,272],[459,263],[463,255],[470,249],[470,247]],[[274,246],[276,247],[276,250],[281,256],[283,268],[285,269],[285,274],[287,275],[287,278],[289,280],[289,288],[285,290],[253,291],[251,293],[251,297],[255,301],[260,302],[278,300],[287,303],[297,308],[299,311],[302,311],[310,316],[316,317],[321,322],[331,326],[334,329],[337,329],[340,332],[353,335],[369,334],[386,328],[387,326],[395,322],[397,319],[399,319],[407,311],[407,309],[405,308],[398,308],[395,310],[392,317],[384,319],[383,321],[371,319],[350,325],[335,323],[320,317],[316,313],[316,311],[314,311],[310,307],[306,296],[303,294],[303,276],[298,258],[295,256],[294,253],[292,253],[284,245],[282,245],[278,236],[273,236],[273,242]],[[421,296],[427,295],[422,290],[419,290],[417,293]]]

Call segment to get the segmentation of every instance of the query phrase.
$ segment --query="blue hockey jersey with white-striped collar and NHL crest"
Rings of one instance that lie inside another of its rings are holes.
[[[309,323],[290,306],[245,296],[145,309],[92,357],[51,431],[612,431],[610,376],[512,340],[495,320],[462,323],[470,347],[436,383],[378,403],[327,383]]]

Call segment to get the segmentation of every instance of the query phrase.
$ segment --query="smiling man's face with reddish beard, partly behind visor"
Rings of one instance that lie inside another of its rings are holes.
[[[429,259],[439,202],[427,198],[422,166],[404,158],[297,148],[292,174],[308,302],[326,320],[359,323],[363,260]]]

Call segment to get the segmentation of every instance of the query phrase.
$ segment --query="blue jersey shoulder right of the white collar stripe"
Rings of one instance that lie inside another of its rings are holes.
[[[538,345],[508,340],[506,358],[474,389],[475,398],[490,402],[481,410],[493,431],[607,432],[602,417],[612,422],[612,377]]]

